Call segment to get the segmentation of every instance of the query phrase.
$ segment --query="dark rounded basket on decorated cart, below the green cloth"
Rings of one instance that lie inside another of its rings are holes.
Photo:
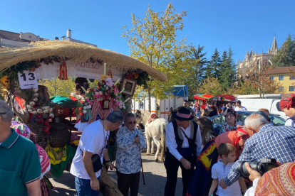
[[[49,135],[50,146],[53,148],[61,148],[66,145],[70,139],[68,126],[64,123],[52,123]]]

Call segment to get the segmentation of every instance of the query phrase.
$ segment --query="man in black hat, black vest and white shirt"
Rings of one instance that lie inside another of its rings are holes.
[[[190,110],[180,107],[178,111],[172,112],[175,121],[170,122],[166,129],[167,151],[165,168],[167,182],[165,194],[175,195],[177,183],[177,171],[182,170],[182,195],[186,195],[187,188],[195,170],[197,156],[202,151],[202,136],[200,127],[195,121]]]

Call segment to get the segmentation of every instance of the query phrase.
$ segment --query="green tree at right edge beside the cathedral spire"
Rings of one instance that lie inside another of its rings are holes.
[[[274,67],[295,66],[295,40],[289,34],[286,41],[281,45],[279,51],[272,59]]]

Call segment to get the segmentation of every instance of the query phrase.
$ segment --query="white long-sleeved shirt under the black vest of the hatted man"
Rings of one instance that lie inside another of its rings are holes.
[[[183,129],[182,127],[180,128],[183,131],[185,131],[185,134],[187,134],[187,137],[190,138],[190,126],[187,127],[187,129]],[[185,138],[185,135],[183,133],[181,133],[183,136],[183,143],[182,143],[182,148],[189,148],[189,142],[187,140],[187,138]],[[167,147],[169,149],[169,152],[172,154],[172,156],[175,156],[175,158],[177,158],[177,160],[180,160],[182,158],[182,156],[180,155],[180,153],[177,151],[177,143],[175,140],[175,133],[174,133],[174,128],[173,128],[173,124],[172,122],[170,122],[170,124],[167,126],[166,129],[166,143],[167,143]],[[200,126],[197,126],[197,135],[196,135],[196,141],[195,143],[197,144],[197,156],[200,155],[200,153],[202,152],[202,136],[201,136],[201,131],[200,131]]]

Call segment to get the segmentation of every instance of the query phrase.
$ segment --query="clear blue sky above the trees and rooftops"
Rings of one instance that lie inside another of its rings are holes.
[[[205,45],[207,58],[217,48],[220,53],[232,45],[234,61],[247,50],[266,53],[274,33],[279,46],[288,33],[295,34],[294,0],[182,0],[119,1],[59,0],[1,1],[0,29],[30,32],[41,38],[66,36],[130,55],[122,27],[131,27],[131,13],[143,18],[148,4],[154,11],[165,10],[172,2],[176,11],[187,11],[185,27],[179,33],[188,43]]]

